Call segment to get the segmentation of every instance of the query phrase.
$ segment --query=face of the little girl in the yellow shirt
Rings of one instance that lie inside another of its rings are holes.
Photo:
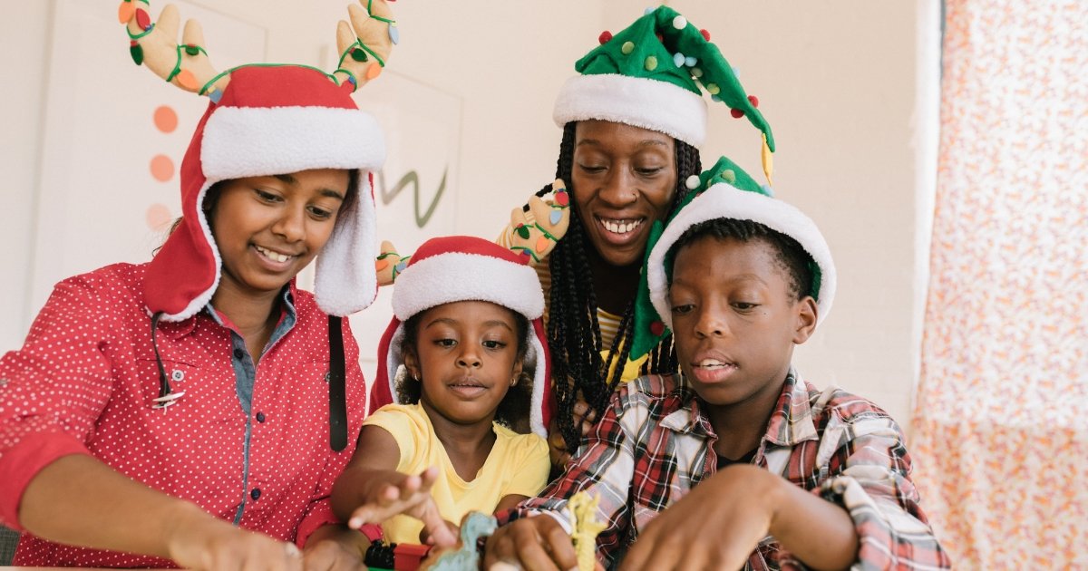
[[[455,301],[419,315],[415,347],[403,359],[422,381],[424,410],[455,424],[491,423],[521,374],[515,314],[489,301]]]

